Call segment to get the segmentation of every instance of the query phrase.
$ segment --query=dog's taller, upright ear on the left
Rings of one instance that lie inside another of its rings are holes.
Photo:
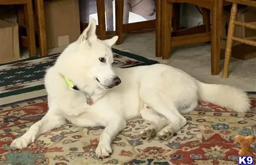
[[[79,37],[80,41],[90,41],[96,39],[96,22],[94,19],[90,20],[89,25],[84,29],[84,32]]]

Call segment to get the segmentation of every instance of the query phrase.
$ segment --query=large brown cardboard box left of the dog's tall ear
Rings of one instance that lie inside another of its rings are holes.
[[[67,46],[81,34],[79,0],[44,1],[44,14],[47,48]]]

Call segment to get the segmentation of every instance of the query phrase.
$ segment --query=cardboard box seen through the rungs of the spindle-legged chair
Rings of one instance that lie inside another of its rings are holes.
[[[221,49],[226,49],[227,31],[230,20],[230,7],[224,9],[222,20],[222,41]],[[238,7],[236,20],[240,22],[256,22],[256,9],[253,7]],[[256,36],[256,30],[248,29],[243,26],[236,26],[234,36],[237,38],[253,37]],[[241,42],[233,41],[233,46],[239,45]]]

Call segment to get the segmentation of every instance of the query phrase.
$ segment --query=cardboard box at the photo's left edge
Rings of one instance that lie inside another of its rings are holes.
[[[0,20],[0,62],[20,59],[18,24]]]

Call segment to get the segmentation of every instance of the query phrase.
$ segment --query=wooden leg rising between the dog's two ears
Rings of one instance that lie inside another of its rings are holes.
[[[96,0],[97,14],[99,23],[99,39],[106,39],[106,21],[105,21],[105,2],[104,0]]]

